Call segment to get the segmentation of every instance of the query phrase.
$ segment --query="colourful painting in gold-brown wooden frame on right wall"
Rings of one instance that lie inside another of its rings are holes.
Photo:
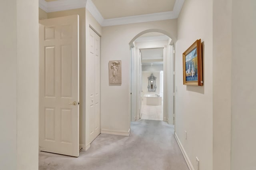
[[[203,85],[201,39],[183,53],[183,84]]]

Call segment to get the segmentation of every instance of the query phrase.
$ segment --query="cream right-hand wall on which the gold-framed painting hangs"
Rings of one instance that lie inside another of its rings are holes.
[[[200,170],[212,170],[212,9],[212,1],[185,1],[176,42],[176,134],[194,169],[198,157]],[[182,53],[197,39],[204,45],[201,87],[183,85]]]

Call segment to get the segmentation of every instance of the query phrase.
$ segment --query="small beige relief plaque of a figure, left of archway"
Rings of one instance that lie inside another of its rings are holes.
[[[109,61],[108,69],[109,69],[109,83],[121,84],[122,83],[121,60]]]

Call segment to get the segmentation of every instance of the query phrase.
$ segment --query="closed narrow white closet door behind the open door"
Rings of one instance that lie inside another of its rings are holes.
[[[90,54],[86,57],[86,115],[89,142],[100,134],[100,36],[91,28]]]

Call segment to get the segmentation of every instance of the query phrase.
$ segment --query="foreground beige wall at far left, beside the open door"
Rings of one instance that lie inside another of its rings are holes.
[[[36,170],[38,2],[2,1],[0,14],[0,167]]]

